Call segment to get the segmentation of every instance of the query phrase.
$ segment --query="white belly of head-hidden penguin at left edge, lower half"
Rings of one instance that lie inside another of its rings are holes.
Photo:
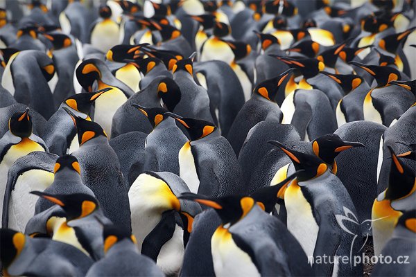
[[[33,181],[36,180],[36,181]],[[35,214],[39,197],[31,195],[33,190],[43,191],[53,182],[53,173],[45,170],[29,170],[17,179],[9,204],[8,228],[24,232],[26,224]]]

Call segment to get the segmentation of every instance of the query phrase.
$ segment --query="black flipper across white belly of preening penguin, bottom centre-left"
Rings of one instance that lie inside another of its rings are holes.
[[[171,210],[162,213],[162,219],[155,228],[146,235],[146,238],[144,238],[141,246],[141,253],[156,262],[160,249],[162,249],[164,244],[173,237],[175,226],[175,211]]]

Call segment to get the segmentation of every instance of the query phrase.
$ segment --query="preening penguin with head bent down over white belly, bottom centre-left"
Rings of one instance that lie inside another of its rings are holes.
[[[179,273],[193,218],[202,211],[197,203],[177,199],[181,193],[189,188],[180,177],[150,171],[139,175],[128,192],[139,250],[168,276]]]

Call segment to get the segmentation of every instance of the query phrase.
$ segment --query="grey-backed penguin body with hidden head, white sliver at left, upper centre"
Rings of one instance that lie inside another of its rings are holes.
[[[198,81],[208,91],[211,114],[214,109],[221,135],[227,136],[234,118],[243,107],[243,88],[225,62],[201,62],[195,64],[194,70]]]

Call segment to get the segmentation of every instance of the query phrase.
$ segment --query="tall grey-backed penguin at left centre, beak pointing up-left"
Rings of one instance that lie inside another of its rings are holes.
[[[77,129],[80,148],[72,155],[80,163],[83,184],[91,188],[105,216],[115,225],[130,229],[128,188],[121,173],[119,158],[108,144],[107,135],[97,123],[64,109]],[[100,176],[98,179],[97,174]]]

